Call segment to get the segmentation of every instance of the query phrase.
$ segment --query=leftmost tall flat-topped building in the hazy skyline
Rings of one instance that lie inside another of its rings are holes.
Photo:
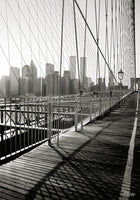
[[[10,67],[10,96],[17,97],[19,95],[19,78],[20,69],[17,67]]]

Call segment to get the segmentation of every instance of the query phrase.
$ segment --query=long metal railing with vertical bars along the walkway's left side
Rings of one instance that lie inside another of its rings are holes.
[[[123,96],[126,98],[127,95]],[[69,129],[78,130],[124,98],[119,93],[68,97],[9,98],[0,103],[0,160]]]

